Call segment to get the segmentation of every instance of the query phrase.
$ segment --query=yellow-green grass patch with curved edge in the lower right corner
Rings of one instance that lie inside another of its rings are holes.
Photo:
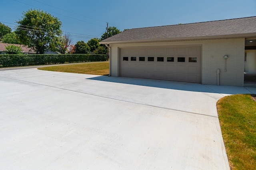
[[[217,103],[220,127],[232,170],[256,169],[256,102],[231,95]]]

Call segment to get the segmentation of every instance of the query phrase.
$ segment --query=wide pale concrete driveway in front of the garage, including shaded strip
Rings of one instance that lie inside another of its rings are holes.
[[[227,170],[216,102],[256,88],[0,71],[0,169]]]

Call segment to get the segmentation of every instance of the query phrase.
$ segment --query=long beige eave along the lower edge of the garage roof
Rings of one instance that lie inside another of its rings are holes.
[[[191,41],[191,40],[212,40],[212,39],[227,39],[227,38],[255,38],[255,33],[246,34],[231,34],[220,36],[195,36],[195,37],[182,37],[182,38],[160,38],[148,40],[124,40],[124,41],[106,41],[100,44],[117,44],[117,43],[147,43],[147,42],[173,42],[173,41]]]

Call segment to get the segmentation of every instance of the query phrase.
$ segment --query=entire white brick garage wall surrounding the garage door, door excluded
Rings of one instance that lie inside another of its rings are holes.
[[[244,85],[244,38],[112,44],[110,45],[111,76],[118,76],[118,47],[171,45],[202,45],[202,84],[217,85],[216,70],[220,69],[220,85]],[[226,72],[224,55],[228,55]]]

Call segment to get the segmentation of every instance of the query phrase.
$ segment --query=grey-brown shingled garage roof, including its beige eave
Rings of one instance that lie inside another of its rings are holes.
[[[192,24],[134,28],[102,40],[100,43],[249,38],[253,36],[256,36],[256,16]]]

